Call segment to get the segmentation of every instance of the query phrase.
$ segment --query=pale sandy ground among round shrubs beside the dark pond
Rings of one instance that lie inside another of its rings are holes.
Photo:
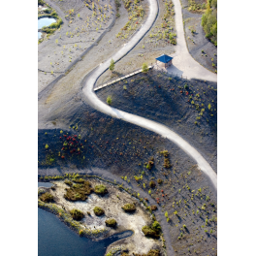
[[[90,179],[94,187],[96,184],[103,183],[102,181]],[[144,206],[138,200],[132,198],[128,193],[118,190],[116,187],[109,183],[104,182],[109,193],[105,196],[98,196],[95,193],[89,195],[85,202],[70,202],[64,199],[65,188],[69,188],[64,181],[54,181],[56,190],[50,193],[57,198],[56,203],[63,206],[66,210],[78,208],[85,213],[85,217],[81,223],[90,229],[104,229],[107,228],[111,231],[110,235],[119,233],[124,230],[132,230],[134,235],[122,240],[122,243],[129,248],[130,251],[135,253],[147,253],[147,251],[154,245],[160,245],[160,240],[147,239],[144,237],[142,228],[144,225],[151,223],[150,216],[144,211]],[[119,198],[117,198],[117,195]],[[136,203],[136,211],[134,213],[126,213],[121,207],[127,203]],[[93,212],[94,207],[100,207],[105,210],[103,216],[96,216]],[[89,211],[91,216],[86,212]],[[114,218],[117,222],[117,229],[106,227],[105,220]],[[125,241],[125,242],[124,242]]]

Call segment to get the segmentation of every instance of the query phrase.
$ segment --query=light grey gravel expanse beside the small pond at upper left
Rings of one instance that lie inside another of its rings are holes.
[[[93,47],[100,36],[107,32],[112,25],[115,15],[110,8],[110,5],[114,7],[113,0],[99,1],[96,8],[97,16],[92,16],[93,11],[88,9],[82,1],[73,0],[64,3],[64,1],[47,0],[47,2],[56,10],[58,16],[63,20],[63,24],[61,29],[55,31],[48,40],[39,45],[39,92],[60,74],[65,74],[76,63],[80,55],[84,54],[88,48]],[[106,4],[107,8],[105,9]],[[99,7],[102,8],[102,13],[99,13]],[[69,10],[72,9],[74,14],[67,17]],[[97,17],[103,18],[103,21],[98,20]],[[70,21],[72,22],[70,23]]]

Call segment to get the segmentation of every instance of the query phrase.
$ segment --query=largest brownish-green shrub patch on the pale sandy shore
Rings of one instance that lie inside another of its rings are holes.
[[[78,179],[77,182],[72,187],[68,188],[64,198],[69,201],[85,201],[87,196],[93,192],[91,184],[89,181],[84,179]]]

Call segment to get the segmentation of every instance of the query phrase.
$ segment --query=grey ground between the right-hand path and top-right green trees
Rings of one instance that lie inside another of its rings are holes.
[[[202,0],[196,2],[199,4],[204,3]],[[202,66],[215,72],[217,70],[217,48],[206,38],[206,33],[201,25],[201,17],[204,12],[189,12],[188,1],[181,0],[181,3],[185,39],[189,53]],[[192,30],[196,32],[192,33]]]

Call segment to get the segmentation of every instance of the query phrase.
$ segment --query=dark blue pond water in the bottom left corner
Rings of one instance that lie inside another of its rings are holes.
[[[54,214],[38,208],[38,256],[103,256],[112,242],[132,234],[125,231],[99,241],[80,238]]]

